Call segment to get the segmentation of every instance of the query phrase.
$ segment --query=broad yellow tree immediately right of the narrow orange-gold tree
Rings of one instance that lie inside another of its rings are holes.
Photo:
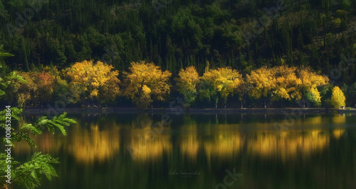
[[[227,98],[236,93],[243,81],[241,74],[231,68],[209,70],[200,78],[199,93],[202,98],[207,98],[209,101],[211,98],[214,99],[215,108],[221,98],[226,108]]]

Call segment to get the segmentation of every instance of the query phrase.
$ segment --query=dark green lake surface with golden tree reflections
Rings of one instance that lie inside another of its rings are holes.
[[[68,116],[68,136],[13,149],[60,158],[41,188],[356,188],[355,114]]]

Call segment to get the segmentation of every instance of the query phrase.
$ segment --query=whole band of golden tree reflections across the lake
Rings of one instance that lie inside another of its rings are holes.
[[[330,118],[327,119],[330,121]],[[331,137],[340,139],[345,133],[345,130],[340,128],[333,131],[321,129],[322,123],[326,121],[321,117],[303,120],[305,129],[290,128],[281,133],[270,129],[273,128],[272,123],[253,123],[258,129],[243,131],[239,124],[213,124],[199,128],[194,121],[184,121],[185,124],[177,128],[177,141],[172,141],[172,129],[169,126],[151,128],[152,119],[145,117],[143,121],[129,123],[124,138],[120,138],[122,131],[118,126],[100,127],[96,123],[88,123],[86,128],[80,124],[74,125],[67,137],[43,133],[33,137],[33,141],[43,153],[69,153],[75,160],[84,164],[114,158],[114,155],[122,153],[121,142],[122,146],[130,146],[131,158],[135,162],[162,160],[164,154],[177,154],[173,153],[174,150],[179,150],[181,158],[194,161],[199,157],[199,151],[205,153],[208,162],[211,162],[211,158],[232,160],[242,152],[261,158],[281,158],[285,161],[300,156],[308,158],[314,153],[320,153],[328,148]],[[345,123],[345,116],[333,116],[331,121]],[[311,127],[315,125],[320,127]],[[31,149],[21,142],[16,143],[13,150],[14,153],[29,153]]]

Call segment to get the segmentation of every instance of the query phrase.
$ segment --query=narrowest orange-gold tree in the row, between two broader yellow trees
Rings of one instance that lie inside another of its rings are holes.
[[[181,69],[176,81],[177,91],[184,96],[185,105],[190,106],[197,98],[197,83],[199,82],[197,70],[194,66]]]

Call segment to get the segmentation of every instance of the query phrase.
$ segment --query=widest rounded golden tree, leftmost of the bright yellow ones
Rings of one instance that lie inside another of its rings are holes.
[[[76,101],[87,103],[113,101],[119,94],[119,71],[101,61],[77,62],[66,69],[69,78],[68,87],[72,88]]]

